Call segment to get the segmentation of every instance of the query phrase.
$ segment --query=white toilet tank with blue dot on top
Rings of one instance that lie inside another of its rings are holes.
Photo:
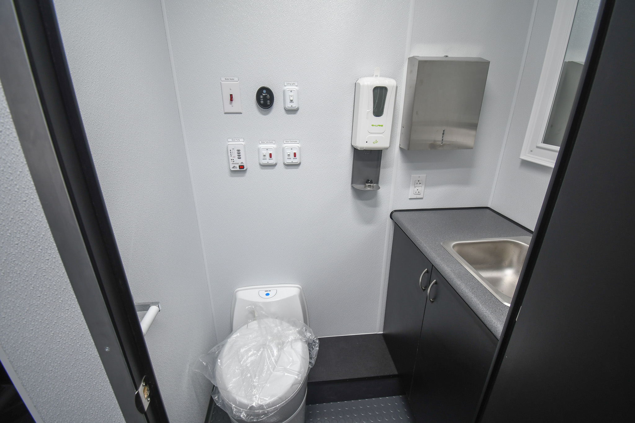
[[[257,303],[272,317],[291,318],[309,326],[307,300],[300,285],[258,285],[234,291],[232,301],[232,332],[253,319],[246,307]]]

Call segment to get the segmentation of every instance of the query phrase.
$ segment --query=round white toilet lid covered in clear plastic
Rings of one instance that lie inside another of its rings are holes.
[[[297,328],[263,318],[227,339],[216,376],[225,400],[244,410],[266,410],[288,400],[304,382],[309,348]]]

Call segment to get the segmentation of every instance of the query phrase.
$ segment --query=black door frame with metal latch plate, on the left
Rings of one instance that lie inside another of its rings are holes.
[[[168,423],[52,0],[0,0],[0,79],[44,215],[124,419]],[[137,394],[144,381],[147,405]]]

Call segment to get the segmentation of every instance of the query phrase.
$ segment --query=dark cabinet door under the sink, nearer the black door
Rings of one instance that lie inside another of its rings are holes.
[[[410,405],[417,423],[469,423],[498,340],[434,268],[431,281]]]

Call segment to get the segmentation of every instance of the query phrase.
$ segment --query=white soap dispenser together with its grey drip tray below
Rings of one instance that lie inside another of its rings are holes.
[[[353,170],[351,185],[363,191],[379,189],[382,150],[391,145],[392,113],[397,82],[375,75],[355,82],[353,111]]]

